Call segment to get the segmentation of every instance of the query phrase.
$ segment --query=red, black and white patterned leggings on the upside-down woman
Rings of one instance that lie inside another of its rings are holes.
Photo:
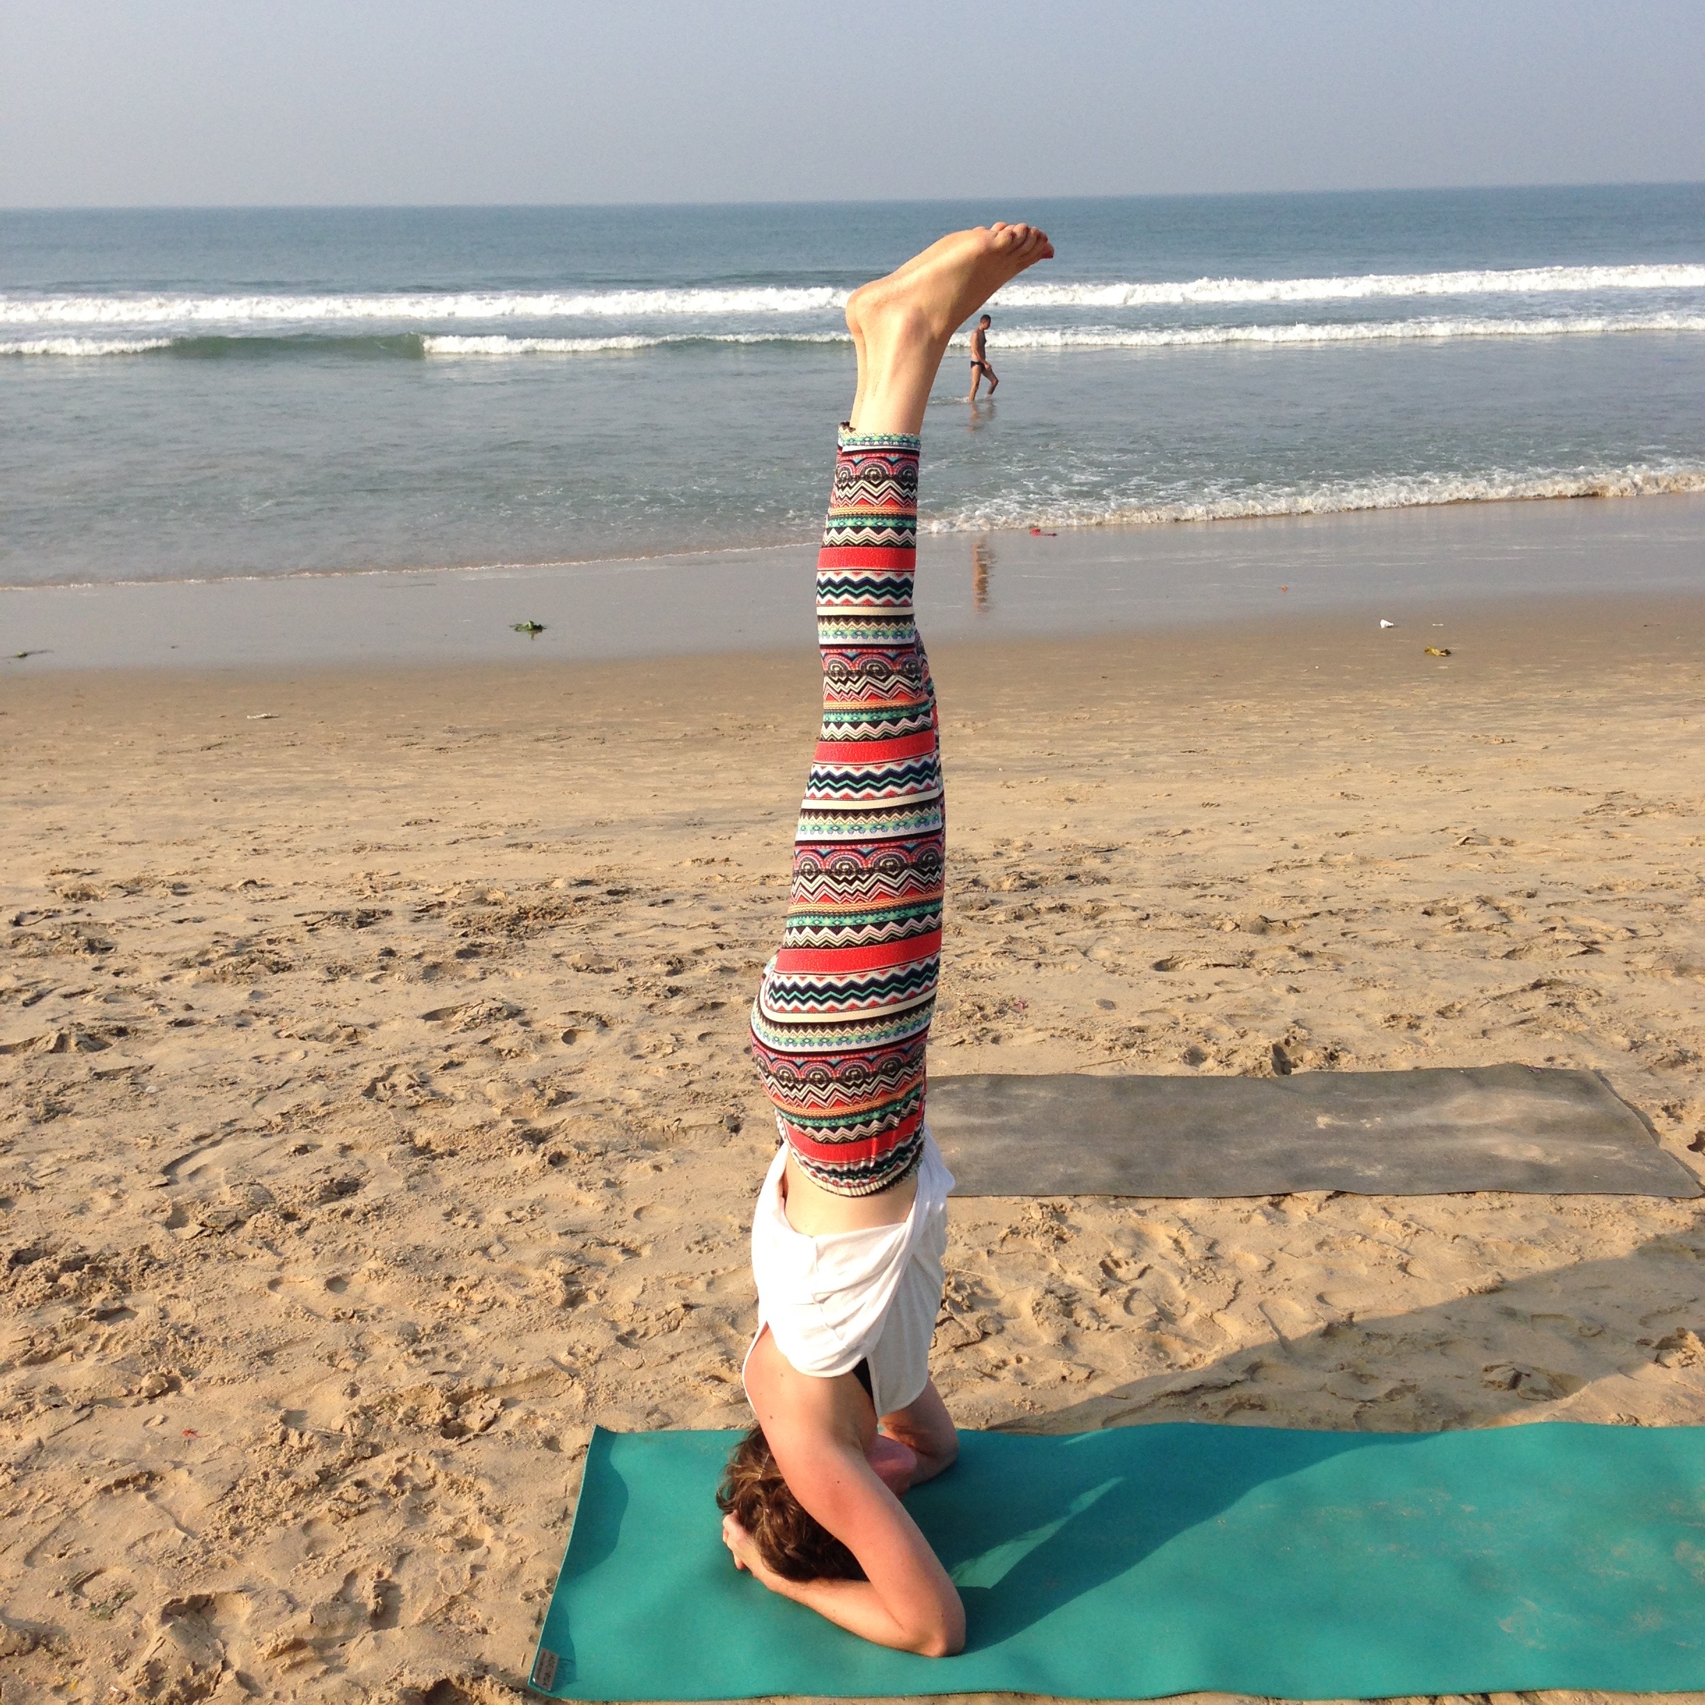
[[[916,547],[917,438],[842,431],[817,558],[824,723],[752,1006],[783,1141],[835,1195],[892,1188],[924,1147],[946,863]]]

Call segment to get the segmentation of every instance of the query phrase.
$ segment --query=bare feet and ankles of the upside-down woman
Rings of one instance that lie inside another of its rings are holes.
[[[979,225],[933,242],[847,300],[858,350],[851,425],[866,433],[916,433],[948,339],[1054,244],[1033,225]]]

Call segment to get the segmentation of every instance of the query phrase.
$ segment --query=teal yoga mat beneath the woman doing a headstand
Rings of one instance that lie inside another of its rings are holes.
[[[962,1656],[885,1652],[738,1574],[731,1432],[593,1432],[534,1686],[554,1698],[1705,1688],[1705,1427],[1166,1424],[962,1436],[907,1497]]]

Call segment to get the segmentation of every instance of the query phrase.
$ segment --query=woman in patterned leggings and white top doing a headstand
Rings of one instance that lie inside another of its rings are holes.
[[[958,1454],[929,1379],[951,1176],[924,1124],[941,955],[943,795],[912,626],[917,452],[951,334],[1054,254],[1030,225],[955,232],[856,290],[858,390],[817,566],[824,720],[752,1052],[783,1144],[752,1222],[757,1427],[720,1495],[740,1569],[881,1645],[965,1644],[900,1504]]]

